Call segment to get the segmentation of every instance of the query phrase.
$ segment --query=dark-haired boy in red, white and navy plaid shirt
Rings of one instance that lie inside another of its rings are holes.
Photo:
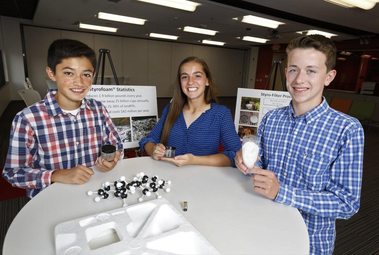
[[[96,54],[82,42],[54,41],[46,68],[58,90],[17,113],[11,128],[3,177],[27,189],[32,198],[53,182],[86,183],[96,165],[110,171],[124,151],[117,130],[101,102],[86,99]],[[102,145],[116,146],[114,161],[100,157]]]

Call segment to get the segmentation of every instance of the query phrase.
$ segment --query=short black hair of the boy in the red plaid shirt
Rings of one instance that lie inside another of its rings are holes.
[[[55,67],[66,58],[88,58],[96,68],[96,53],[83,42],[71,39],[58,39],[52,42],[47,50],[47,66],[55,73]]]

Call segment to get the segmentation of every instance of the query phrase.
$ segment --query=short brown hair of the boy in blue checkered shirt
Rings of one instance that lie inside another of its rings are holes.
[[[300,36],[293,39],[285,49],[285,52],[288,54],[296,48],[314,48],[325,54],[326,56],[326,72],[334,69],[335,59],[337,58],[337,49],[334,45],[334,42],[329,38],[321,34],[312,34],[308,36]]]

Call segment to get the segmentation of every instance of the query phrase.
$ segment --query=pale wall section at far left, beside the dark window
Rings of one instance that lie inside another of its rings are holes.
[[[6,16],[1,16],[1,20],[4,42],[3,50],[5,51],[8,67],[8,86],[10,92],[10,97],[8,98],[11,100],[22,100],[22,97],[17,92],[19,89],[24,89],[22,80],[25,79],[20,23],[31,23],[31,20]]]

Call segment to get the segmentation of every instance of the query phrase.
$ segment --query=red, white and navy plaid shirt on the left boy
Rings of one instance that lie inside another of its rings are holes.
[[[64,113],[51,90],[44,100],[17,113],[3,177],[36,196],[51,184],[57,169],[94,166],[104,144],[114,144],[124,155],[122,141],[101,102],[83,99],[79,113]]]

